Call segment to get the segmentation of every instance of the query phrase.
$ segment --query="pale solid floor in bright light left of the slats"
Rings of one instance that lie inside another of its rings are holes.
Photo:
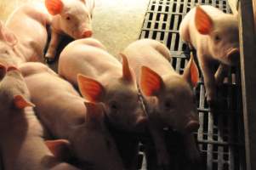
[[[1,0],[0,20],[22,3],[41,0]],[[95,38],[117,56],[128,43],[139,38],[149,0],[95,0],[93,30]]]

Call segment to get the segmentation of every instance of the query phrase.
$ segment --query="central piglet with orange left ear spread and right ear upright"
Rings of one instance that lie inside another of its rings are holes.
[[[61,52],[59,74],[75,86],[79,84],[85,99],[104,104],[106,120],[111,127],[131,133],[145,129],[146,116],[140,105],[136,77],[125,57],[120,63],[93,38],[76,40]],[[115,139],[117,144],[123,144],[118,142],[122,138]],[[127,144],[117,146],[119,151],[127,150],[131,145],[131,141],[124,143]],[[138,146],[135,140],[134,145]],[[128,150],[133,153],[126,159],[129,160],[125,162],[126,167],[137,167],[137,146]]]

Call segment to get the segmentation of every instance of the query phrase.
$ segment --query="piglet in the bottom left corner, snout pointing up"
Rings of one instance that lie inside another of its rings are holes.
[[[78,170],[48,149],[26,83],[14,66],[0,65],[0,147],[5,170]],[[54,142],[54,141],[52,141]],[[56,147],[66,142],[55,144]],[[55,150],[53,147],[52,150]],[[57,153],[58,151],[55,150]]]

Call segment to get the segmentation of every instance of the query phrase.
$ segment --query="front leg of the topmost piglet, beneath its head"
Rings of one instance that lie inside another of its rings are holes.
[[[60,43],[60,38],[61,38],[60,33],[52,29],[51,40],[48,45],[47,53],[45,54],[45,60],[47,63],[51,63],[54,61],[57,48]]]

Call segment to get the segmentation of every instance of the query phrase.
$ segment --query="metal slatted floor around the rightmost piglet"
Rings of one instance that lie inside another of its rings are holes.
[[[182,74],[189,59],[187,46],[179,38],[179,24],[185,14],[196,4],[210,4],[225,13],[231,13],[225,0],[151,0],[145,14],[145,21],[139,38],[156,39],[166,44],[173,55],[172,65]],[[199,150],[202,153],[203,167],[208,170],[245,169],[244,136],[242,122],[242,97],[240,71],[231,68],[225,83],[218,88],[218,113],[210,111],[205,99],[202,77],[196,87],[197,108],[200,128],[195,134]],[[175,144],[169,144],[176,147]],[[180,147],[178,147],[181,149]],[[179,154],[174,151],[172,169],[196,169],[185,167]],[[172,149],[171,149],[172,150]],[[156,158],[156,157],[155,157]],[[145,158],[141,169],[145,169]]]

